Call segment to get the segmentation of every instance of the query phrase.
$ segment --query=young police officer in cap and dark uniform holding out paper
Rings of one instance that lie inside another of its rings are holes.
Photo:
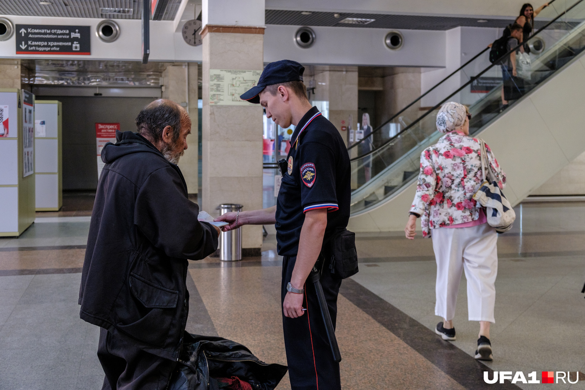
[[[260,103],[280,127],[296,126],[277,205],[216,220],[229,222],[224,231],[276,223],[278,254],[284,256],[281,295],[291,388],[335,390],[341,388],[339,364],[333,361],[314,285],[306,280],[318,267],[335,326],[341,279],[329,271],[328,244],[349,220],[350,164],[338,130],[307,99],[304,70],[295,61],[270,63],[258,85],[240,96]]]

